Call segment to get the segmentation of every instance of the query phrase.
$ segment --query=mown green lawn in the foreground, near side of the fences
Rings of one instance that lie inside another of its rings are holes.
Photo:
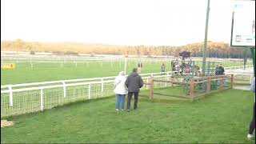
[[[115,97],[78,102],[7,118],[15,124],[1,128],[1,143],[254,143],[246,138],[253,96],[243,90],[225,90],[195,102],[150,102],[143,96],[138,110],[130,113],[114,110]]]

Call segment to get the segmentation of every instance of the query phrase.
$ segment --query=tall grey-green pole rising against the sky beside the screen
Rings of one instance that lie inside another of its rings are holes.
[[[205,75],[206,73],[207,33],[208,33],[209,12],[210,12],[210,0],[208,0],[207,10],[206,10],[205,46],[202,54],[202,74],[203,75]]]

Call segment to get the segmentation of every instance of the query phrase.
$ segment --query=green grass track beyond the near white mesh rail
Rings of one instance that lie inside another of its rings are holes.
[[[250,64],[250,63],[248,63]],[[143,63],[142,73],[154,73],[161,71],[161,62]],[[198,62],[199,66],[202,66]],[[242,66],[243,62],[223,62],[223,66]],[[130,74],[136,67],[136,62],[128,62],[126,72]],[[18,63],[15,70],[1,70],[1,85],[17,84],[26,82],[45,82],[54,80],[74,79],[74,78],[95,78],[115,76],[119,71],[124,70],[124,62],[89,62],[86,63],[34,63],[33,69],[30,63]],[[166,63],[166,71],[170,71],[170,62]]]

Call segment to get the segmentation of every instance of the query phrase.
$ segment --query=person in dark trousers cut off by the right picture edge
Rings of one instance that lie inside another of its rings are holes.
[[[253,79],[253,82],[251,82],[250,90],[255,93],[255,77]],[[249,126],[249,134],[247,135],[247,138],[253,138],[254,137],[254,130],[255,130],[255,95],[254,95],[254,117],[250,122]]]

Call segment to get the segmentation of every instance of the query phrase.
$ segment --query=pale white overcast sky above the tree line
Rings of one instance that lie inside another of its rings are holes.
[[[203,42],[207,0],[1,0],[1,41]],[[230,43],[232,0],[210,0],[208,41]]]

